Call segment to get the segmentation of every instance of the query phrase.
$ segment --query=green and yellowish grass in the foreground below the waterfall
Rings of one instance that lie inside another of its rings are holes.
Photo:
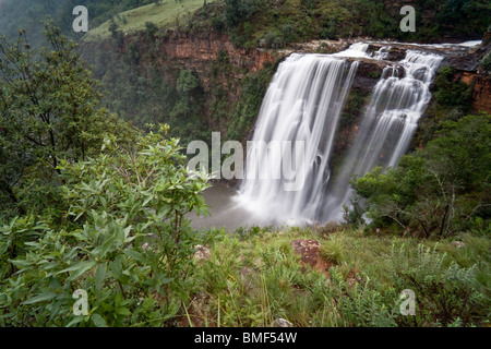
[[[290,246],[296,239],[321,242],[321,255],[333,263],[327,274],[301,263]],[[448,326],[463,318],[484,326],[491,240],[471,234],[460,240],[459,249],[450,240],[347,230],[323,237],[306,228],[224,234],[209,246],[211,260],[196,265],[185,318],[193,326],[270,326],[278,317],[295,326]],[[419,313],[408,318],[400,315],[398,297],[417,286]],[[468,308],[459,303],[463,297]],[[440,312],[441,303],[450,311]]]

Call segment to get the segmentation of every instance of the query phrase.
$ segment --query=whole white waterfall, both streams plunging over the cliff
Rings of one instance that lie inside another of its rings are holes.
[[[417,122],[430,100],[429,85],[442,57],[407,51],[398,70],[386,68],[366,107],[352,146],[332,178],[330,156],[337,124],[351,87],[358,62],[346,57],[369,58],[368,45],[356,44],[335,55],[292,53],[278,71],[264,97],[253,144],[287,142],[295,149],[304,144],[303,188],[284,190],[291,178],[271,178],[284,168],[285,148],[268,147],[258,153],[248,147],[247,178],[240,189],[240,203],[259,220],[320,221],[342,218],[342,206],[349,201],[349,179],[364,174],[374,166],[395,166],[407,151]],[[273,159],[273,163],[271,161]],[[258,178],[250,173],[259,173]],[[270,177],[268,177],[270,176]],[[298,176],[298,171],[297,171]]]

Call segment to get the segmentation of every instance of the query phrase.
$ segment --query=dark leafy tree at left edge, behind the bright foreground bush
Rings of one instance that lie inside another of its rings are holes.
[[[39,51],[24,31],[14,43],[0,37],[0,195],[20,213],[27,209],[19,197],[22,188],[29,180],[56,183],[60,158],[86,159],[98,152],[105,132],[134,133],[100,107],[100,84],[76,44],[52,22],[44,25],[49,48]]]

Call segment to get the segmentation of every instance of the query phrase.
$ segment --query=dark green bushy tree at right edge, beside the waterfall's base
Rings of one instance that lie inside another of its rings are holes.
[[[395,221],[428,238],[472,229],[472,216],[489,220],[490,121],[484,113],[448,121],[427,148],[396,168],[354,180],[374,225]]]

